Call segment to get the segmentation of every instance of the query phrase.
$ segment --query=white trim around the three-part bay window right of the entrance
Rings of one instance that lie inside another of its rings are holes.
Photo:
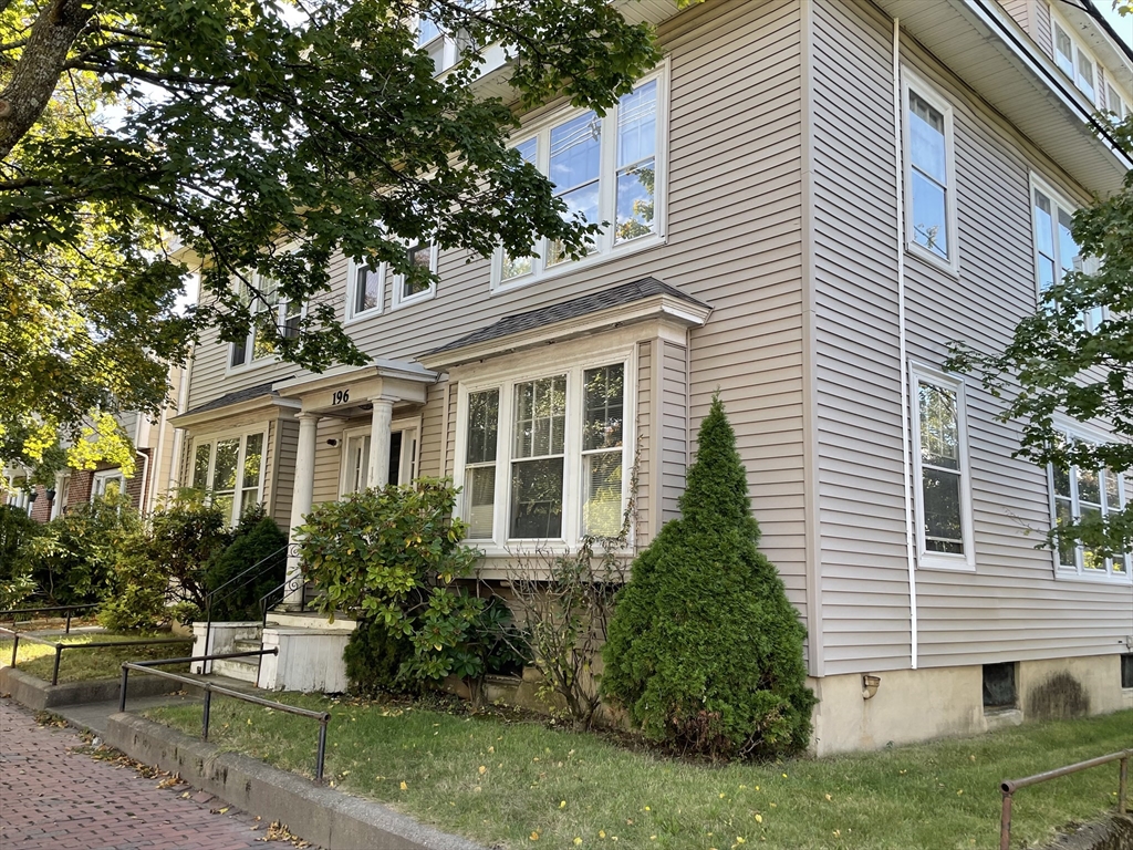
[[[617,346],[588,351],[563,362],[550,352],[527,358],[522,366],[509,366],[491,375],[461,380],[458,388],[457,441],[453,482],[465,486],[465,458],[468,449],[468,397],[484,390],[500,390],[500,424],[496,431],[496,501],[493,512],[493,538],[466,542],[482,550],[485,555],[501,556],[517,552],[530,552],[542,545],[577,546],[582,532],[582,420],[579,415],[582,373],[600,366],[624,365],[624,389],[622,399],[622,510],[629,498],[629,485],[633,467],[633,447],[637,433],[637,346]],[[508,520],[511,509],[511,461],[512,461],[512,409],[514,385],[543,377],[566,374],[566,426],[563,460],[563,535],[554,539],[510,538]],[[467,518],[466,494],[462,491],[457,513]]]

